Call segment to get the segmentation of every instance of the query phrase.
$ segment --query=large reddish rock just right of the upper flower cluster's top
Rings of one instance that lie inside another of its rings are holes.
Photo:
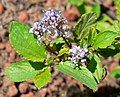
[[[68,21],[75,21],[75,20],[77,20],[79,15],[80,15],[79,11],[78,11],[78,9],[75,6],[72,6],[71,8],[67,9],[64,12],[64,16],[66,17],[66,19]]]

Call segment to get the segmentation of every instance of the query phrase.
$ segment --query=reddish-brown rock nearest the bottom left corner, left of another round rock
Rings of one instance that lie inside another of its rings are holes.
[[[14,84],[8,87],[8,91],[7,91],[8,97],[15,96],[17,95],[17,93],[18,93],[18,90]]]

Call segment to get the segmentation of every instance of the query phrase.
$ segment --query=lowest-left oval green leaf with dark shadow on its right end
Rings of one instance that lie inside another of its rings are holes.
[[[5,73],[14,82],[21,82],[32,79],[36,74],[42,71],[44,65],[41,63],[33,63],[28,61],[21,61],[11,64],[6,68]]]

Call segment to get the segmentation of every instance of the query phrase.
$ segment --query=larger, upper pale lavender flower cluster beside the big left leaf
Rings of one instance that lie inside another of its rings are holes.
[[[67,23],[67,20],[62,17],[61,11],[49,9],[44,11],[44,15],[41,21],[35,22],[30,29],[30,33],[34,33],[39,41],[45,33],[58,37],[64,34],[67,30],[63,28],[63,25]]]

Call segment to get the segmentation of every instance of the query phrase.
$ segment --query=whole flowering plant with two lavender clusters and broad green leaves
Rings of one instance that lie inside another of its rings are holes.
[[[118,33],[100,32],[96,21],[94,13],[87,13],[70,28],[61,11],[55,9],[44,11],[32,28],[12,21],[9,40],[23,58],[12,63],[6,75],[14,82],[31,79],[41,88],[51,80],[50,67],[54,66],[97,91],[106,74],[100,50],[115,44]]]

